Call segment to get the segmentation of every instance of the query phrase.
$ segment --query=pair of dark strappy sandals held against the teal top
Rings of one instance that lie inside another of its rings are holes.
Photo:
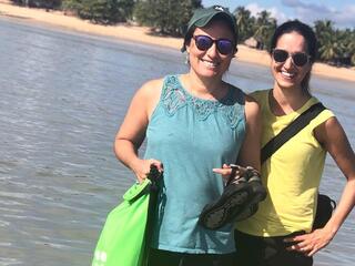
[[[207,229],[219,229],[227,223],[248,218],[256,213],[258,203],[266,197],[266,190],[256,170],[235,164],[230,166],[232,174],[223,194],[207,204],[200,214],[199,223]]]

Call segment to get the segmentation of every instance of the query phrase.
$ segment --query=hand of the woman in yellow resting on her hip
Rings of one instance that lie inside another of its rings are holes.
[[[287,247],[287,250],[301,252],[311,257],[323,247],[327,246],[333,237],[334,234],[324,227],[321,229],[315,229],[310,234],[285,238],[284,242],[295,243]]]

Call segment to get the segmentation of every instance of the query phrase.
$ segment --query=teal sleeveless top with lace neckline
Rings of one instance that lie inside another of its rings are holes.
[[[244,93],[230,86],[220,101],[191,95],[168,75],[146,130],[145,158],[163,163],[152,247],[191,254],[235,252],[233,225],[203,228],[199,215],[223,192],[212,168],[235,163],[245,135]]]

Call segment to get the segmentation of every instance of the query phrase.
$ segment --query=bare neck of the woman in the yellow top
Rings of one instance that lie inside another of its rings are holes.
[[[270,95],[270,106],[275,115],[285,115],[302,108],[310,98],[301,86],[281,88],[275,83]]]

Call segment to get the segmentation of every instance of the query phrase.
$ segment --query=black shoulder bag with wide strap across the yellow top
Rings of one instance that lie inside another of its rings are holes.
[[[316,103],[304,111],[295,121],[288,124],[276,136],[270,140],[261,151],[261,163],[263,164],[273,153],[275,153],[284,143],[296,135],[310,122],[315,119],[325,106],[322,103]],[[322,228],[332,217],[333,211],[336,207],[335,201],[324,194],[317,196],[317,209],[313,223],[313,229]]]

